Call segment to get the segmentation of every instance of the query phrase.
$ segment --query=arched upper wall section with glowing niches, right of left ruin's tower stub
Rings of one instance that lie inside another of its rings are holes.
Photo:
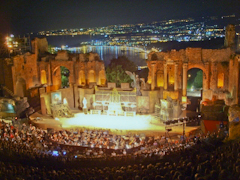
[[[66,51],[60,51],[56,58],[50,59],[50,62],[40,61],[38,62],[38,66],[39,72],[46,72],[47,84],[56,86],[54,88],[55,90],[59,89],[61,85],[60,66],[64,66],[70,71],[70,84],[88,85],[88,76],[91,71],[95,77],[93,81],[96,82],[97,85],[105,85],[99,81],[100,72],[102,72],[104,78],[106,78],[104,63],[96,53],[79,54],[70,57]],[[84,73],[84,84],[79,83],[79,79],[81,78],[79,77],[80,71]]]

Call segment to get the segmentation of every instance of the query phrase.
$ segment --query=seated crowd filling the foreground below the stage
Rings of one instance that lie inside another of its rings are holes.
[[[104,130],[49,133],[32,125],[4,124],[0,135],[0,179],[240,177],[240,143],[223,143],[220,133],[194,136],[182,144],[165,137],[119,136]],[[133,145],[127,146],[130,142]]]

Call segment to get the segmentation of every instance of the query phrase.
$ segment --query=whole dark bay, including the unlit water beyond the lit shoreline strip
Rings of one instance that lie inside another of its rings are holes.
[[[100,59],[104,61],[107,66],[111,59],[118,56],[126,56],[133,61],[137,66],[146,66],[147,53],[142,47],[128,47],[128,46],[91,46],[81,45],[83,42],[104,41],[104,36],[42,36],[46,37],[49,45],[56,47],[56,49],[69,50],[72,53],[98,53]]]

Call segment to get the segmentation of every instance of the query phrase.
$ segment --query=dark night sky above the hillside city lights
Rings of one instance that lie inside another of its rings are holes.
[[[23,34],[233,13],[240,13],[239,0],[2,0],[0,32]]]

